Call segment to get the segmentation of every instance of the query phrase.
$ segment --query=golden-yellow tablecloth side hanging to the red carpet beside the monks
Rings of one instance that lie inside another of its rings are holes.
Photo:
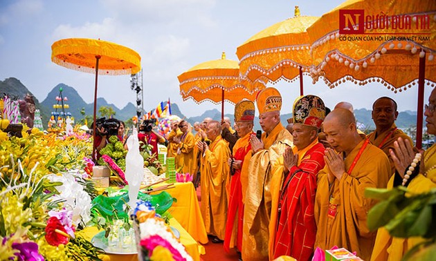
[[[162,184],[157,184],[156,187],[158,186],[162,186]],[[176,182],[174,186],[173,189],[165,190],[177,199],[177,202],[174,202],[169,210],[171,215],[192,235],[194,240],[206,244],[208,234],[201,217],[199,200],[194,185],[192,182]],[[160,193],[160,191],[156,193]]]

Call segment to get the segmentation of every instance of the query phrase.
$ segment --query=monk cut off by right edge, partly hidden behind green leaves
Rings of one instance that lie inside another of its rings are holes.
[[[424,111],[427,133],[436,135],[436,89],[433,89],[428,101],[429,105],[426,105]],[[422,151],[421,154],[423,154]],[[390,150],[390,155],[395,164],[396,172],[389,180],[388,189],[403,184],[408,166],[415,159],[415,151],[407,139],[399,137],[397,142],[394,142],[394,149]],[[406,179],[404,186],[407,186],[408,191],[413,194],[425,193],[436,188],[436,144],[424,152],[419,166],[415,167],[415,171]],[[377,231],[371,260],[401,260],[408,250],[423,241],[424,238],[420,237],[394,238],[389,235],[386,229],[381,228]]]

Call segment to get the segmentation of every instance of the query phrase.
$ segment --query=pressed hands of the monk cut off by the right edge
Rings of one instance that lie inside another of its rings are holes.
[[[392,150],[392,148],[389,149],[390,157],[392,157],[395,168],[397,169],[399,175],[404,177],[406,168],[408,168],[413,159],[415,159],[415,151],[413,150],[410,142],[401,139],[401,137],[394,142],[394,149],[395,151]],[[424,153],[424,151],[421,152],[421,154],[422,153]]]

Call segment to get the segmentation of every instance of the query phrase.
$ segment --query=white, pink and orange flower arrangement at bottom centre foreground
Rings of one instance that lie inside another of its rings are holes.
[[[139,222],[139,244],[145,260],[192,260],[150,202],[138,202],[134,217]]]

